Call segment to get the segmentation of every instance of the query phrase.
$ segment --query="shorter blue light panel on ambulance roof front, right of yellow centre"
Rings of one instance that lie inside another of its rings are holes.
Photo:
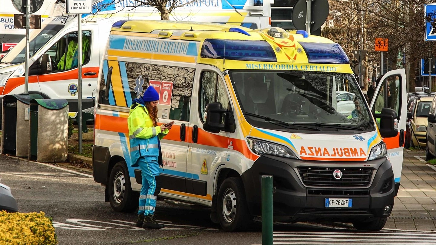
[[[306,52],[309,63],[350,64],[347,54],[339,44],[300,42]]]

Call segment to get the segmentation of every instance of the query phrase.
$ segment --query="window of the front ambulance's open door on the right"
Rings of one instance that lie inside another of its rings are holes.
[[[381,112],[382,108],[391,108],[400,115],[400,95],[401,91],[399,85],[401,77],[390,76],[383,81],[382,87],[375,97],[374,109],[375,113]]]

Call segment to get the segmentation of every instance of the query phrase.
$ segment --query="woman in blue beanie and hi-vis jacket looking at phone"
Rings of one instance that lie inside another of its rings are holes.
[[[140,167],[142,187],[139,197],[137,227],[160,229],[164,225],[154,218],[157,195],[160,192],[159,162],[160,140],[167,135],[174,122],[157,126],[159,94],[148,86],[144,95],[134,99],[130,107],[130,158],[132,167]]]

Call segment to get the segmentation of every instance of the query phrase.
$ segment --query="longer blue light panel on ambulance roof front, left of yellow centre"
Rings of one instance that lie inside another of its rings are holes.
[[[260,40],[206,39],[200,55],[201,58],[277,62],[271,45]]]

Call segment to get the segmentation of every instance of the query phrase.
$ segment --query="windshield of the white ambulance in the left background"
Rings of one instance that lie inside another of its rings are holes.
[[[46,25],[42,29],[36,29],[30,33],[29,57],[32,57],[44,44],[46,44],[55,34],[62,30],[64,25]],[[26,38],[23,38],[17,46],[12,48],[1,60],[3,63],[18,64],[25,61],[26,57]]]

